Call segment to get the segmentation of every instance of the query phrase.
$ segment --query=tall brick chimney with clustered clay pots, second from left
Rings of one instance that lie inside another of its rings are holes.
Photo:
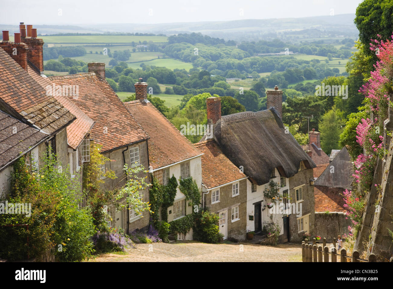
[[[27,25],[23,22],[19,24],[19,30],[23,43],[29,47],[27,58],[40,71],[44,72],[44,40],[37,38],[37,29],[33,25]]]

